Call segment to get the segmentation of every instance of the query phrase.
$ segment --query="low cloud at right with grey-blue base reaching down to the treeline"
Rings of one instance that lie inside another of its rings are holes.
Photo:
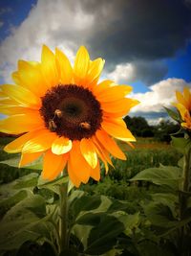
[[[140,104],[131,109],[130,116],[144,117],[150,125],[157,125],[161,120],[169,120],[164,106],[173,108],[172,103],[177,102],[176,90],[182,92],[185,86],[190,87],[191,82],[167,79],[153,84],[146,93],[132,93],[130,97],[137,99]]]

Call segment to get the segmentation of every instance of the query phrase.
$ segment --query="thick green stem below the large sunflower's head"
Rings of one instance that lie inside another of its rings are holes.
[[[59,185],[60,191],[60,252],[68,248],[68,181]]]

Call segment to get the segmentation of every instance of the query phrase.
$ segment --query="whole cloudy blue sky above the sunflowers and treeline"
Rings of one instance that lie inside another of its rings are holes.
[[[42,44],[74,61],[80,45],[105,58],[102,79],[133,86],[131,116],[167,117],[175,91],[191,87],[191,0],[1,0],[0,83]]]

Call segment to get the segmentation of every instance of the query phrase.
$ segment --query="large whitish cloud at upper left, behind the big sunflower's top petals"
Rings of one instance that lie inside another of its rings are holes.
[[[94,22],[94,15],[84,12],[79,2],[39,0],[29,16],[0,45],[0,76],[10,81],[17,60],[39,60],[42,44],[60,48],[73,59],[74,52]]]

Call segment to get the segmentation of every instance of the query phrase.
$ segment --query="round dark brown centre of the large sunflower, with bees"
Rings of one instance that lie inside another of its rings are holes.
[[[40,114],[46,128],[71,140],[92,137],[102,122],[93,93],[75,84],[59,84],[42,97]]]

